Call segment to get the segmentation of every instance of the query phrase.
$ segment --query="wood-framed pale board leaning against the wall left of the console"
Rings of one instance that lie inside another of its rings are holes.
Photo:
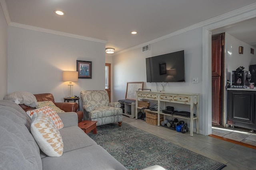
[[[136,100],[136,90],[143,89],[143,82],[127,82],[125,99]]]

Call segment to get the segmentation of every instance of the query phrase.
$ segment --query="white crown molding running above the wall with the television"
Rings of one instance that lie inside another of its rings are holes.
[[[167,39],[169,37],[173,37],[175,35],[178,35],[178,34],[181,34],[181,33],[184,33],[186,31],[190,31],[192,29],[196,29],[196,28],[200,28],[200,27],[205,27],[207,25],[210,25],[210,24],[213,24],[213,23],[217,23],[217,22],[220,22],[220,21],[223,21],[223,20],[227,20],[229,18],[233,18],[235,16],[239,16],[239,15],[242,15],[242,14],[246,14],[246,13],[254,13],[254,11],[256,11],[256,3],[253,3],[253,4],[250,4],[248,6],[244,6],[242,8],[238,8],[237,10],[233,10],[231,12],[227,12],[225,14],[222,14],[220,16],[217,16],[217,17],[214,17],[214,18],[211,18],[209,20],[205,20],[205,21],[202,21],[200,23],[196,23],[194,25],[191,25],[189,27],[186,27],[186,28],[183,28],[183,29],[180,29],[178,31],[175,31],[173,33],[170,33],[170,34],[167,34],[167,35],[164,35],[162,37],[159,37],[159,38],[156,38],[156,39],[153,39],[151,41],[148,41],[146,43],[143,43],[143,44],[140,44],[140,45],[136,45],[134,47],[131,47],[129,49],[125,49],[123,51],[119,51],[118,53],[115,53],[113,56],[115,55],[119,55],[119,54],[122,54],[122,53],[126,53],[128,51],[131,51],[131,50],[134,50],[134,49],[137,49],[137,48],[140,48],[140,47],[143,47],[145,45],[148,45],[148,44],[152,44],[152,43],[156,43],[158,41],[161,41],[163,39]],[[243,19],[241,19],[240,21],[243,21],[243,20],[247,20],[247,19],[250,19],[250,18],[254,18],[255,15],[248,15],[248,16],[244,16]],[[230,24],[230,23],[228,23]]]

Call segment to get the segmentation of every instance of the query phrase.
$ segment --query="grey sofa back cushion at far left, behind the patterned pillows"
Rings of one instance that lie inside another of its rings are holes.
[[[39,147],[25,125],[30,124],[27,118],[18,104],[0,101],[0,169],[42,169]]]

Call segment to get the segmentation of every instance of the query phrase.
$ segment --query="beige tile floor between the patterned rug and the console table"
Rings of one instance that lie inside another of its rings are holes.
[[[176,145],[226,164],[223,170],[255,170],[256,150],[236,145],[213,137],[194,133],[180,133],[171,129],[154,126],[140,119],[123,116],[123,121],[134,127],[166,139]]]

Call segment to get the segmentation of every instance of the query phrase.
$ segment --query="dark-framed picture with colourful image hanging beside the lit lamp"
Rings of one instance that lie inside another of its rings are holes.
[[[92,62],[77,60],[76,71],[78,71],[78,78],[92,78]]]

